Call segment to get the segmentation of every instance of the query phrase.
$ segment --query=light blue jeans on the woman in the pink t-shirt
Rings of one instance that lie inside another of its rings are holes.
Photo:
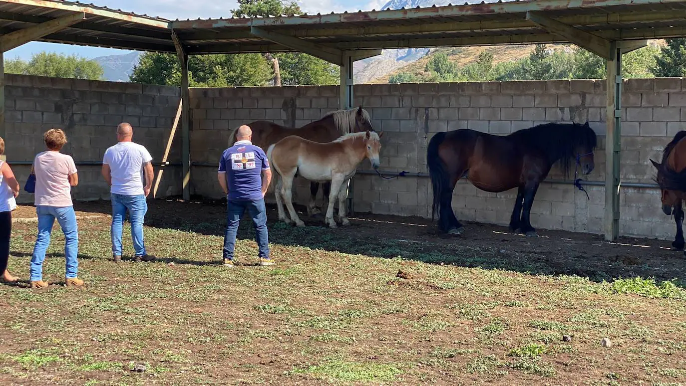
[[[38,214],[38,237],[31,258],[31,281],[43,280],[43,261],[45,251],[50,245],[50,232],[57,219],[64,233],[64,257],[67,259],[67,274],[72,279],[78,274],[79,263],[76,259],[79,251],[79,228],[76,224],[76,213],[73,206],[36,206]]]

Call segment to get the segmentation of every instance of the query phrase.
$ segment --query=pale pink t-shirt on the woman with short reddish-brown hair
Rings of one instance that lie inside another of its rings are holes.
[[[34,205],[72,206],[69,175],[76,173],[71,156],[60,152],[43,152],[34,159],[36,193]]]

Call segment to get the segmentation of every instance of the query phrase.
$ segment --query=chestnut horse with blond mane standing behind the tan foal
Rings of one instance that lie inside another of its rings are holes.
[[[330,112],[318,121],[308,123],[302,128],[286,128],[285,126],[277,125],[270,121],[250,122],[248,123],[248,126],[252,130],[252,144],[259,146],[262,149],[267,149],[270,145],[289,135],[300,136],[314,142],[326,143],[331,142],[344,134],[366,132],[368,130],[374,131],[369,113],[364,110],[362,106],[350,110]],[[236,130],[238,129],[231,132],[229,146],[233,145],[233,142],[236,141]],[[324,204],[326,204],[331,184],[327,182],[322,185]],[[315,205],[317,192],[319,191],[319,183],[311,182],[309,184],[309,191],[310,197],[309,203],[307,204],[307,214],[316,215],[320,213]]]

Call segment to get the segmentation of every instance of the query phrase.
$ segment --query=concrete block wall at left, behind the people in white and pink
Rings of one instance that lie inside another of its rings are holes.
[[[72,189],[77,200],[109,198],[109,187],[99,165],[107,147],[117,143],[117,125],[134,127],[134,141],[147,147],[153,162],[161,162],[180,101],[176,87],[121,82],[99,82],[29,75],[5,75],[5,154],[20,184],[26,182],[34,156],[45,150],[43,133],[62,128],[69,143],[62,152],[77,163],[79,185]],[[180,130],[169,152],[169,162],[180,162]],[[155,167],[158,175],[159,167]],[[178,195],[181,168],[169,166],[160,180],[158,197]],[[33,202],[21,191],[20,202]]]

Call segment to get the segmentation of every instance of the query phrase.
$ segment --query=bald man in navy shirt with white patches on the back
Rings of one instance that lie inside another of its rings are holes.
[[[233,267],[236,232],[246,209],[255,226],[259,265],[273,265],[269,256],[267,210],[264,206],[264,195],[272,180],[272,171],[264,151],[250,142],[252,130],[248,126],[238,128],[236,139],[238,141],[232,147],[224,150],[217,174],[227,204],[224,266]]]

